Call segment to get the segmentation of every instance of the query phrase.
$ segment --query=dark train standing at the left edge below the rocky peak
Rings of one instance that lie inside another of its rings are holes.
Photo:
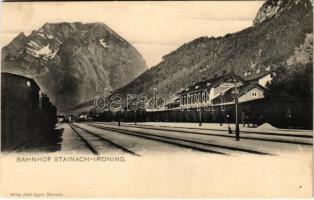
[[[56,122],[56,107],[33,79],[1,73],[1,151],[51,134]]]

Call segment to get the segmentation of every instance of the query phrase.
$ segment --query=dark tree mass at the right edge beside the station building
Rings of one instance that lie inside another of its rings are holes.
[[[278,67],[277,76],[265,92],[265,100],[265,115],[273,125],[312,128],[312,65]]]

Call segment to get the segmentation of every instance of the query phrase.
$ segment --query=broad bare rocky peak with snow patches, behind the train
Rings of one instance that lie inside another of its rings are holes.
[[[2,71],[34,78],[60,110],[125,86],[147,69],[140,53],[102,23],[46,23],[2,49]]]

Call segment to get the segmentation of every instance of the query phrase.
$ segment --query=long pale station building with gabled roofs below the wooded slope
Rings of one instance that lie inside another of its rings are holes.
[[[172,122],[233,122],[235,120],[235,91],[240,107],[240,122],[246,117],[256,119],[263,115],[264,92],[275,73],[270,70],[242,76],[233,71],[202,79],[182,89],[166,109],[148,113],[149,121]],[[227,119],[227,116],[229,117]]]

